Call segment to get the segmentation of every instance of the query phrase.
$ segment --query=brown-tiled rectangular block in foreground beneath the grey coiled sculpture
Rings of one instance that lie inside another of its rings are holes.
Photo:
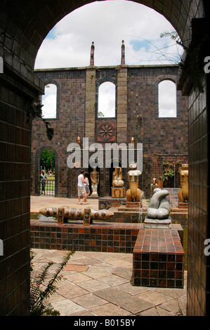
[[[181,225],[165,229],[140,226],[133,249],[134,286],[183,288],[185,252],[181,231]]]

